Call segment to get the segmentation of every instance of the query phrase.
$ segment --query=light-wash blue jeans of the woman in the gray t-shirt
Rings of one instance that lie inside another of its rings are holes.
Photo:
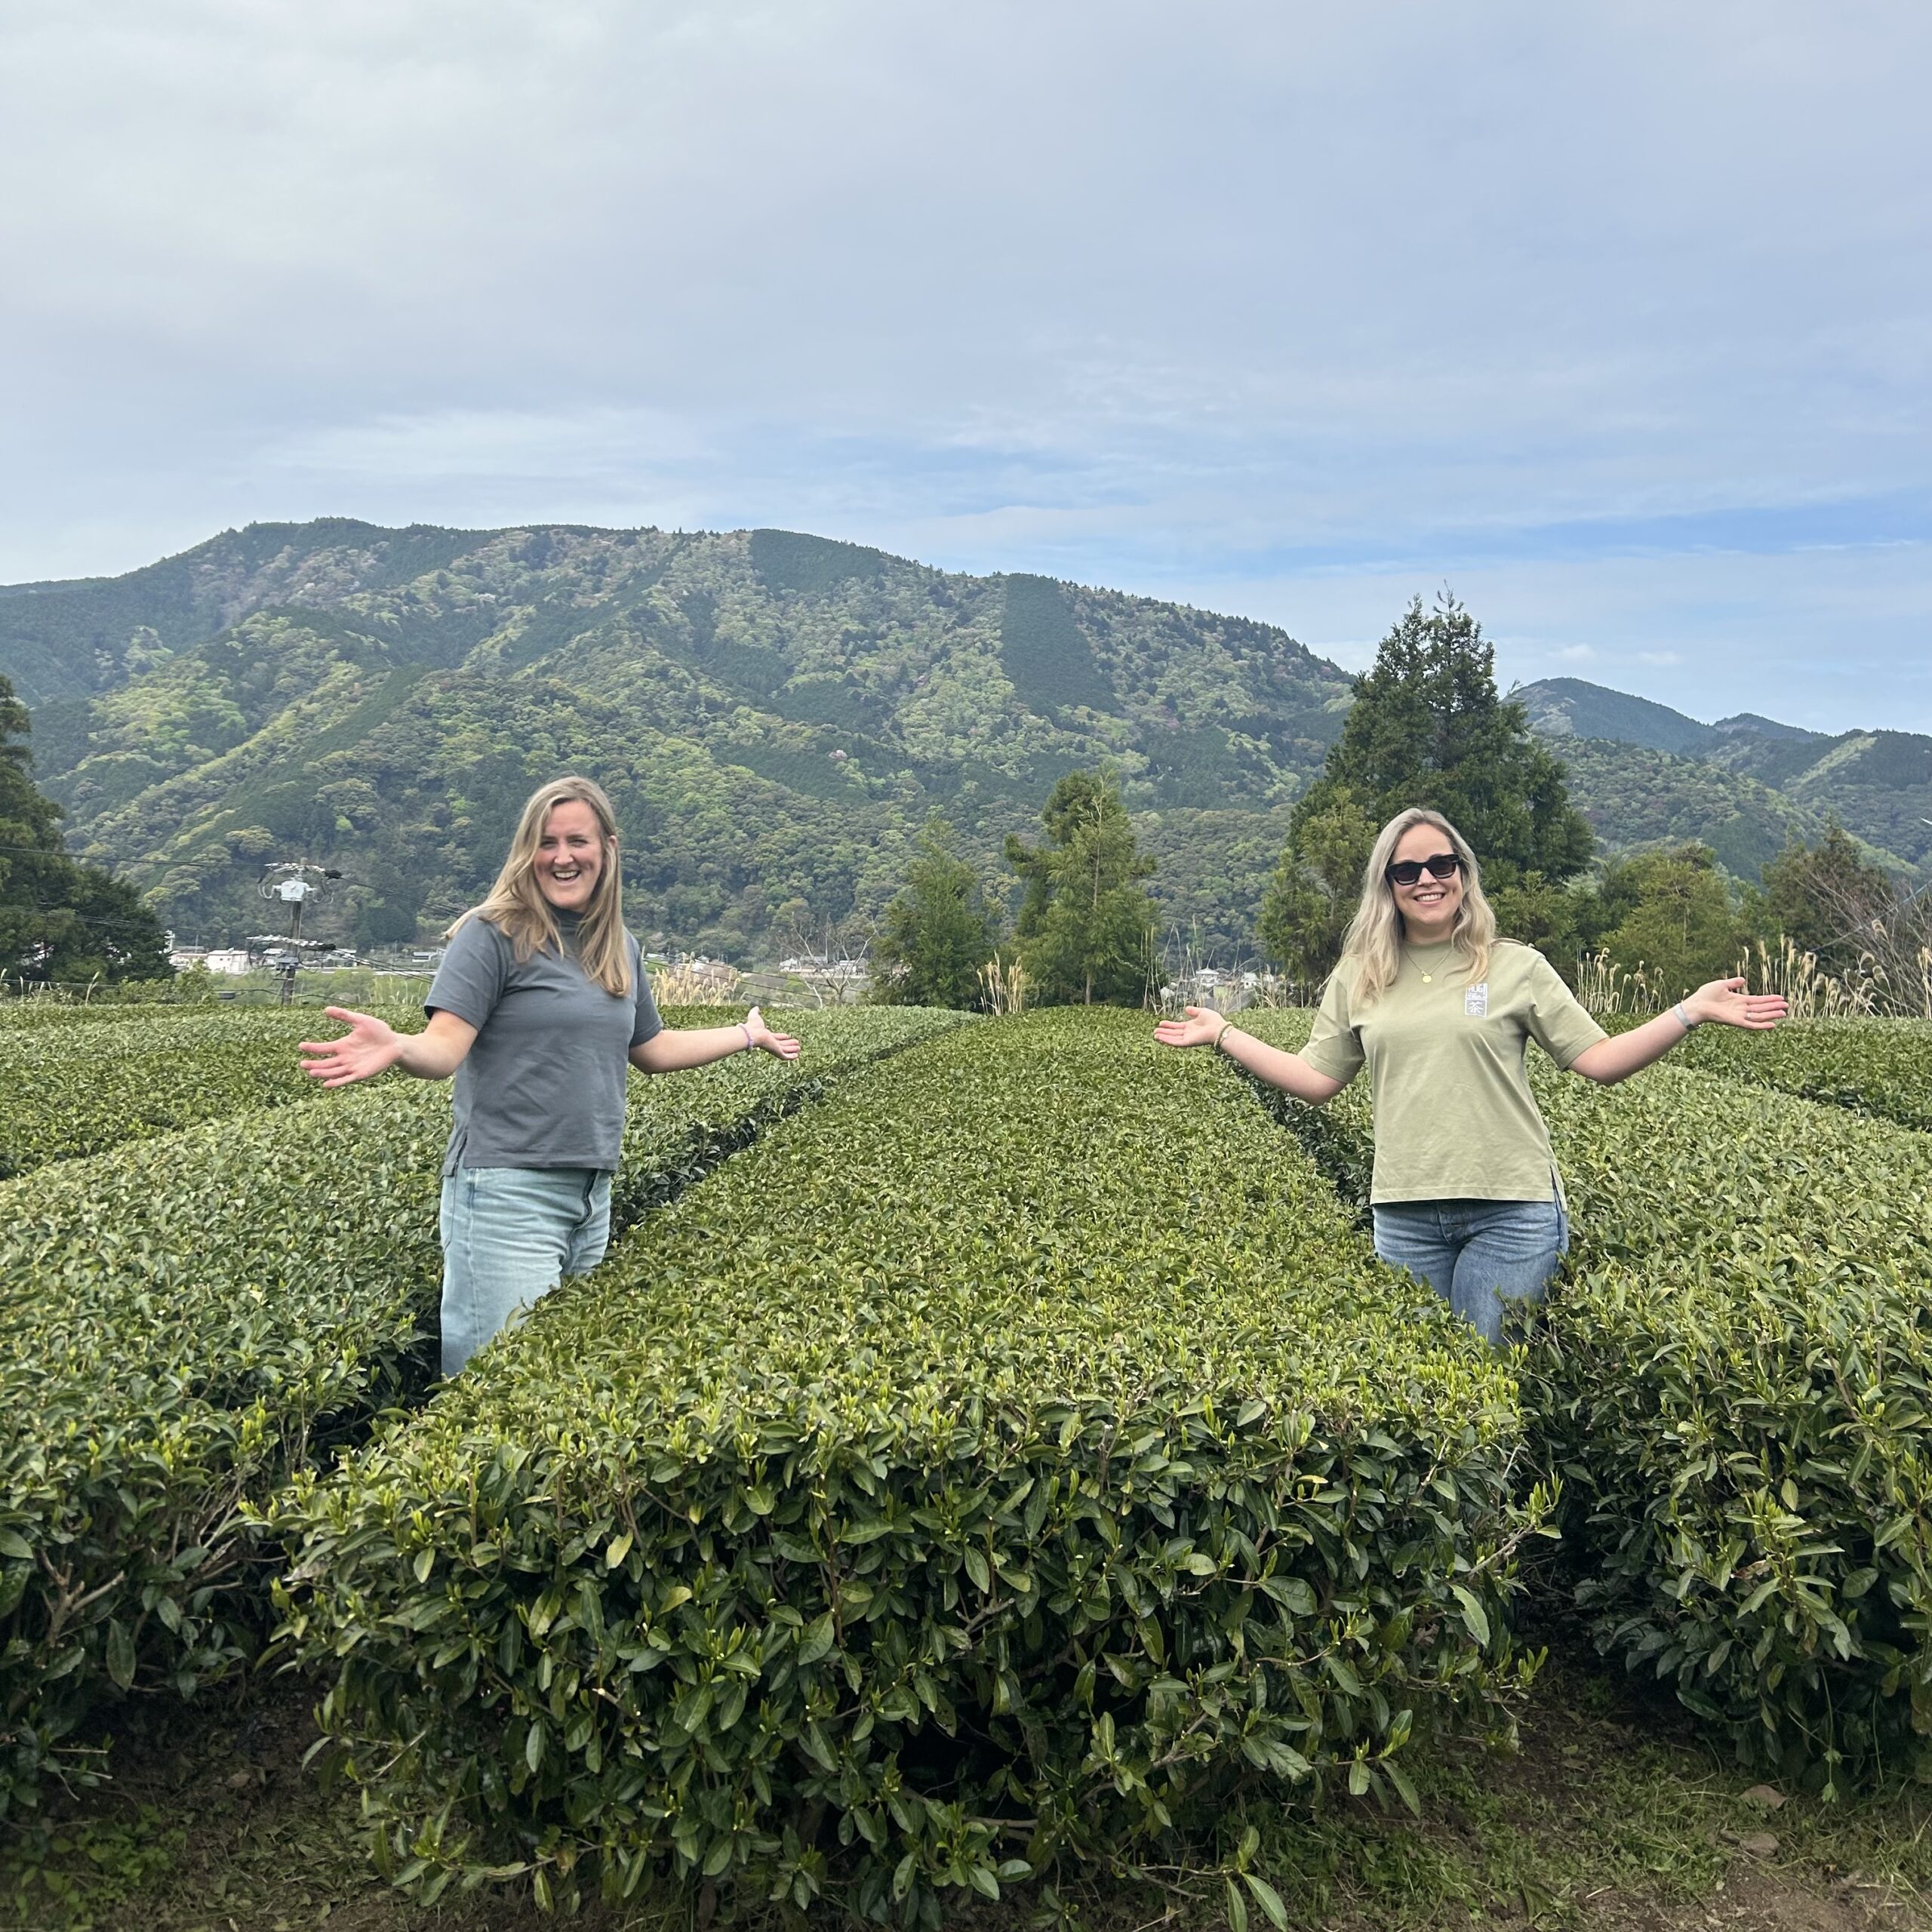
[[[442,1374],[529,1314],[611,1244],[611,1177],[595,1167],[460,1167],[442,1177]]]

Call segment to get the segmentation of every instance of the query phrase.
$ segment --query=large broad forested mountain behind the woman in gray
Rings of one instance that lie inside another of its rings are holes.
[[[943,808],[995,879],[1111,763],[1165,914],[1244,947],[1350,686],[1285,632],[790,531],[255,524],[124,578],[0,589],[70,846],[182,935],[267,929],[261,867],[338,866],[323,937],[471,904],[527,792],[582,769],[632,923],[753,956],[896,889]]]

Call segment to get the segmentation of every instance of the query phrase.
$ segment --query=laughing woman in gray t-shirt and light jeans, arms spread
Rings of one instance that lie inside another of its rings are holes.
[[[603,1260],[628,1066],[663,1074],[750,1047],[798,1057],[757,1007],[740,1026],[672,1032],[659,1020],[624,931],[616,817],[589,779],[553,779],[524,806],[510,856],[489,898],[450,929],[423,1007],[419,1034],[328,1007],[348,1034],[301,1051],[332,1088],[388,1066],[419,1080],[456,1074],[442,1163],[444,1376]]]

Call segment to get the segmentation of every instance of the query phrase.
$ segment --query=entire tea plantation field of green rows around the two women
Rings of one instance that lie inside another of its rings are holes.
[[[1366,1097],[794,1022],[439,1385],[446,1088],[0,1009],[0,1924],[1928,1922],[1932,1028],[1546,1068],[1492,1356]]]

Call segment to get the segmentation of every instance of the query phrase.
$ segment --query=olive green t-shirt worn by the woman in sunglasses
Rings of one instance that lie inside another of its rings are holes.
[[[1447,941],[1403,947],[1381,999],[1356,1012],[1329,980],[1302,1059],[1331,1080],[1368,1066],[1376,1103],[1376,1202],[1557,1198],[1549,1128],[1522,1070],[1534,1039],[1567,1068],[1604,1028],[1534,947],[1499,939],[1488,978]]]

